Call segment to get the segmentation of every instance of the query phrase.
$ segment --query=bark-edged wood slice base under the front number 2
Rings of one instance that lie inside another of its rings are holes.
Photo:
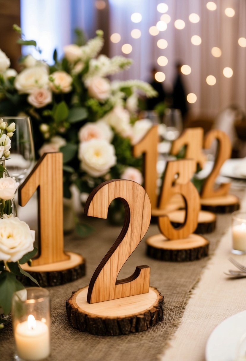
[[[89,304],[88,286],[73,292],[66,301],[67,317],[73,327],[92,335],[118,336],[146,331],[163,320],[164,300],[150,287],[148,293]]]

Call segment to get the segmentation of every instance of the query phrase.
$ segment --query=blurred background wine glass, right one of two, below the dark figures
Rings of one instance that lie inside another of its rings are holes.
[[[172,142],[177,139],[183,130],[182,116],[179,109],[166,109],[163,117],[166,131],[163,138]]]

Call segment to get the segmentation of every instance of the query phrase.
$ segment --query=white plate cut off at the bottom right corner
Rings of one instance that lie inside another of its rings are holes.
[[[234,361],[240,339],[246,332],[246,311],[221,322],[206,345],[206,361]]]

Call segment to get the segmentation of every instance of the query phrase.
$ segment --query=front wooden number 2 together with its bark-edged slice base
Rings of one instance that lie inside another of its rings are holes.
[[[107,218],[115,198],[123,201],[124,226],[113,246],[95,270],[89,286],[66,302],[73,327],[94,335],[140,332],[163,319],[163,296],[149,286],[150,267],[137,266],[128,278],[117,280],[120,269],[149,228],[150,200],[138,183],[117,179],[96,187],[85,204],[88,216]]]

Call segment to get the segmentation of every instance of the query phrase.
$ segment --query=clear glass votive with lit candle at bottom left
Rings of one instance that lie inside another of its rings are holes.
[[[15,360],[38,361],[50,355],[50,297],[44,288],[17,291],[12,299]]]

